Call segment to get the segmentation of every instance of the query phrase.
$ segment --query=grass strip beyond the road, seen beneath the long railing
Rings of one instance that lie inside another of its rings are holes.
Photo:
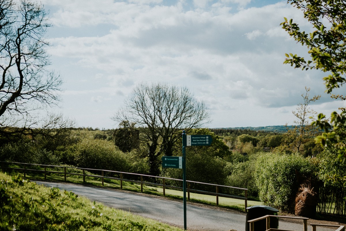
[[[22,173],[18,173],[18,172],[14,172],[14,171],[12,172],[12,174],[19,174],[19,176],[21,176],[21,177],[23,176]],[[85,172],[85,174],[90,175],[89,172]],[[28,171],[26,173],[26,178],[28,178],[30,180],[44,180],[44,175],[40,172]],[[47,180],[64,182],[64,175],[63,174],[49,174],[49,175],[47,175]],[[81,176],[73,176],[73,175],[69,175],[69,174],[67,174],[66,181],[69,183],[84,184],[83,178]],[[86,181],[85,184],[102,186],[101,179],[97,178],[97,177],[86,177],[85,181]],[[104,186],[109,187],[109,188],[120,189],[120,181],[105,178],[104,179]],[[122,189],[129,190],[132,192],[140,192],[140,185],[134,184],[131,182],[123,181],[122,182]],[[163,188],[143,185],[143,193],[163,196]],[[175,199],[182,199],[183,198],[183,192],[180,190],[172,190],[172,189],[166,188],[165,189],[165,195],[166,195],[166,197],[171,197],[171,198],[175,198]],[[216,206],[216,196],[212,196],[212,195],[190,193],[190,201]],[[247,206],[261,205],[261,204],[262,203],[259,201],[250,201],[250,200],[247,201]],[[234,198],[219,197],[219,205],[218,206],[224,207],[224,208],[230,208],[230,209],[238,210],[238,211],[244,211],[245,210],[244,200],[234,199]]]

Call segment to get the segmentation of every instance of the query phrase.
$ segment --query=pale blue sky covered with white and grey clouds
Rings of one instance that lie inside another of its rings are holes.
[[[304,87],[322,95],[311,108],[341,102],[318,71],[284,65],[305,55],[283,17],[312,30],[280,0],[43,0],[53,27],[52,66],[64,80],[61,108],[78,126],[116,128],[110,118],[141,82],[188,87],[210,109],[208,127],[292,124]]]

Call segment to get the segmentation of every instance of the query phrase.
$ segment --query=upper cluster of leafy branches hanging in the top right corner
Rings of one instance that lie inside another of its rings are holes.
[[[299,43],[309,49],[311,60],[296,54],[286,54],[284,63],[291,64],[302,70],[317,69],[330,74],[324,78],[327,92],[340,87],[346,79],[345,73],[345,33],[346,33],[346,3],[342,0],[292,0],[291,5],[303,10],[304,18],[317,30],[310,34],[301,32],[293,20],[285,21],[282,27]],[[323,19],[330,22],[328,29],[323,25]],[[342,42],[340,42],[342,41]]]

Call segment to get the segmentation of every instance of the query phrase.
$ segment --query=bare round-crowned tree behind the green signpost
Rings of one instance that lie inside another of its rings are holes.
[[[209,111],[186,88],[163,83],[141,83],[113,117],[142,127],[150,172],[160,174],[159,156],[172,156],[182,130],[188,132],[209,122]]]

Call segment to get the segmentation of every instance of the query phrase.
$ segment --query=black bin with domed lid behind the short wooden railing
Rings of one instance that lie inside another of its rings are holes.
[[[265,216],[265,215],[277,216],[277,212],[279,212],[279,210],[277,210],[276,208],[266,206],[266,205],[254,205],[251,207],[247,207],[246,209],[247,209],[247,214],[246,214],[245,231],[250,231],[250,223],[248,223],[247,221],[256,219],[258,217]],[[255,231],[267,230],[266,219],[254,222],[254,228],[255,228]],[[273,228],[273,229],[279,228],[279,217],[270,218],[270,228]]]

